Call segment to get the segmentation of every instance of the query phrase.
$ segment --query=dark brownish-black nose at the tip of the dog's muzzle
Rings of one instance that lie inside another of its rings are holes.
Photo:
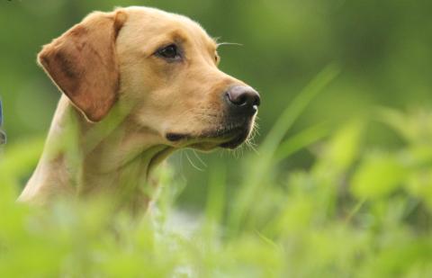
[[[261,99],[257,91],[244,85],[229,88],[226,101],[236,112],[257,112]]]

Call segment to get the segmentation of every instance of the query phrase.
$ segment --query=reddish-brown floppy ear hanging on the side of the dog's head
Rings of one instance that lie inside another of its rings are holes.
[[[117,100],[115,40],[126,19],[121,11],[90,13],[38,55],[40,66],[89,121],[101,121]]]

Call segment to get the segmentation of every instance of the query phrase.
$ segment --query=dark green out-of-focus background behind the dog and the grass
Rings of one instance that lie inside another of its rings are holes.
[[[337,127],[365,117],[376,106],[410,110],[432,102],[430,1],[0,0],[0,95],[8,144],[44,138],[58,102],[58,89],[35,62],[40,47],[87,13],[127,5],[183,13],[220,41],[242,44],[220,47],[220,68],[255,86],[262,96],[257,145],[284,108],[329,64],[337,64],[341,74],[296,121],[288,138],[320,122]],[[367,138],[398,146],[380,128],[368,130]],[[229,169],[229,186],[235,187],[239,160],[248,152],[253,150],[186,150],[172,157],[176,178],[185,184],[180,205],[202,207],[209,169],[221,161]],[[307,168],[312,160],[311,150],[305,149],[284,166]]]

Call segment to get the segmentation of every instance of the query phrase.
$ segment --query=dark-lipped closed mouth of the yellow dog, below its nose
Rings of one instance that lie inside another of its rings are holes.
[[[199,135],[188,133],[166,133],[166,139],[175,143],[179,141],[190,142],[189,146],[200,149],[210,148],[237,148],[248,137],[251,130],[251,123],[227,124],[221,127],[204,130]]]

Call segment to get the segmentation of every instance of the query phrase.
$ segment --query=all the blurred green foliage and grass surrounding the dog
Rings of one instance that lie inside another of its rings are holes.
[[[243,44],[220,47],[220,67],[262,95],[257,152],[181,151],[175,171],[160,173],[158,209],[140,221],[105,202],[17,205],[59,97],[36,66],[40,46],[86,13],[131,4]],[[431,276],[431,8],[0,0],[0,277]],[[177,207],[204,212],[190,236],[167,221]]]

